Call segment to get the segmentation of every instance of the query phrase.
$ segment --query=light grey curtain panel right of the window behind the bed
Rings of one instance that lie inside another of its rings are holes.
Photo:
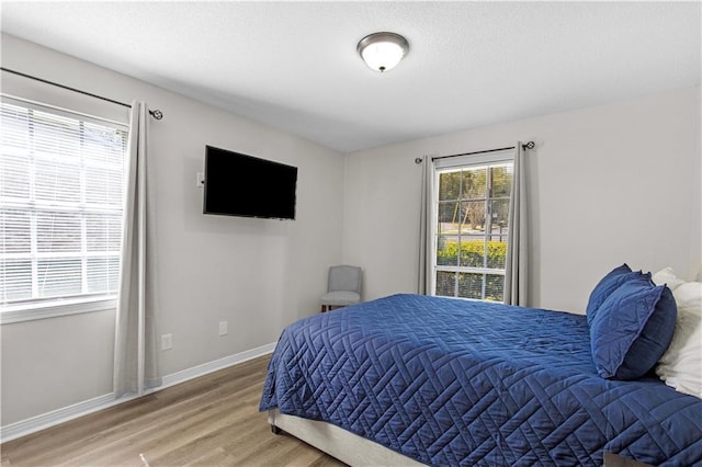
[[[528,265],[529,231],[526,217],[525,150],[521,141],[514,145],[514,173],[509,203],[508,243],[505,272],[505,304],[529,306]]]

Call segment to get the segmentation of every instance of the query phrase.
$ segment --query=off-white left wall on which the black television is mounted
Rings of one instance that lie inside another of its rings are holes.
[[[145,82],[2,36],[2,66],[122,102],[160,109],[150,123],[148,301],[162,375],[275,342],[318,311],[341,259],[343,156]],[[296,166],[297,219],[202,214],[205,145]],[[218,337],[218,322],[228,335]],[[2,425],[112,391],[114,312],[3,324]]]

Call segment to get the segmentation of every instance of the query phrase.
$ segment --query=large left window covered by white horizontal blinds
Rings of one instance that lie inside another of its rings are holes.
[[[114,297],[128,128],[4,96],[0,118],[0,304]]]

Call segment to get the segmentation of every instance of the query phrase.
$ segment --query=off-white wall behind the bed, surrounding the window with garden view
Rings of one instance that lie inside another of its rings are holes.
[[[344,262],[365,298],[416,292],[423,155],[534,140],[529,151],[532,306],[584,312],[612,267],[672,266],[701,253],[700,88],[359,151],[347,157]]]

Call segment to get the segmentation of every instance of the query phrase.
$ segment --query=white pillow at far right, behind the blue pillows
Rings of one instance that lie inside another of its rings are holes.
[[[661,272],[667,274],[664,282],[672,289],[678,320],[656,374],[677,391],[702,398],[702,282],[679,280],[669,267]],[[655,278],[654,282],[659,284]],[[675,288],[671,284],[676,284]]]

